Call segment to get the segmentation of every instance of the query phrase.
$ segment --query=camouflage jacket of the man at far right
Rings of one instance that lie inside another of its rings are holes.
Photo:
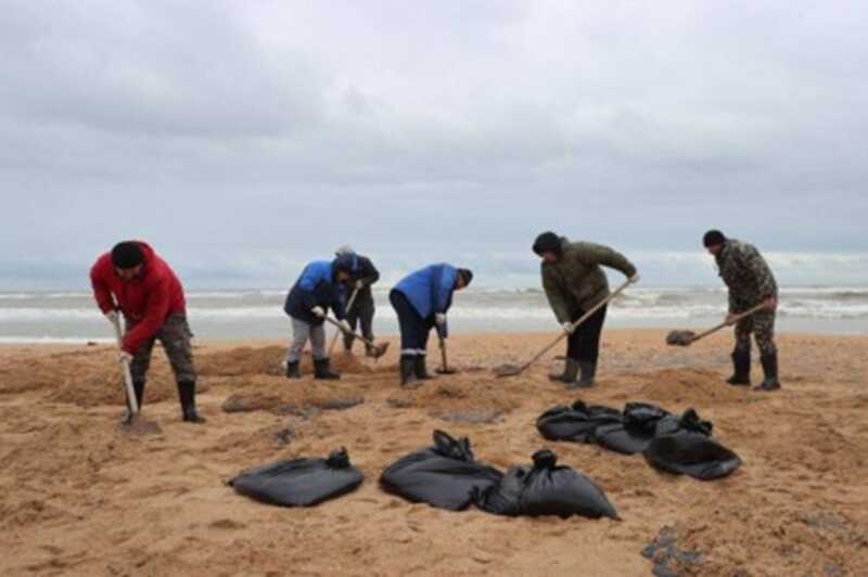
[[[754,245],[730,239],[715,260],[729,287],[729,312],[743,312],[763,300],[777,298],[775,275]]]

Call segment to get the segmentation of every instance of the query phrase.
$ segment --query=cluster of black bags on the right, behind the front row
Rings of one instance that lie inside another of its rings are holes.
[[[647,402],[628,402],[622,412],[576,401],[546,411],[536,426],[549,440],[642,453],[655,469],[701,480],[725,477],[741,465],[735,452],[711,438],[712,423],[702,421],[693,409],[676,416]]]

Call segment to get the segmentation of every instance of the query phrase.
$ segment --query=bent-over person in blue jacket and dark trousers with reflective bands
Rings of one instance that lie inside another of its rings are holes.
[[[401,385],[431,379],[425,369],[427,335],[436,326],[442,338],[449,336],[446,312],[452,305],[452,293],[472,280],[469,269],[441,262],[409,274],[392,290],[388,299],[400,325]]]

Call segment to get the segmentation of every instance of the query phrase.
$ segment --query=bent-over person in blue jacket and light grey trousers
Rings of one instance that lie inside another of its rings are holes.
[[[353,261],[348,256],[339,256],[332,261],[315,260],[304,268],[286,295],[283,310],[292,319],[293,332],[292,344],[286,352],[286,377],[301,379],[298,364],[308,338],[314,349],[315,379],[341,377],[330,367],[323,323],[331,308],[341,323],[341,330],[345,333],[350,331],[341,297],[341,285],[349,281],[352,268]]]

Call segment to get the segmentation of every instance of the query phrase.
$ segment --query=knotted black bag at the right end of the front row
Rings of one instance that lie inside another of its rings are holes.
[[[572,515],[618,518],[600,487],[549,450],[534,453],[531,467],[513,466],[497,485],[474,495],[476,507],[496,515]]]

